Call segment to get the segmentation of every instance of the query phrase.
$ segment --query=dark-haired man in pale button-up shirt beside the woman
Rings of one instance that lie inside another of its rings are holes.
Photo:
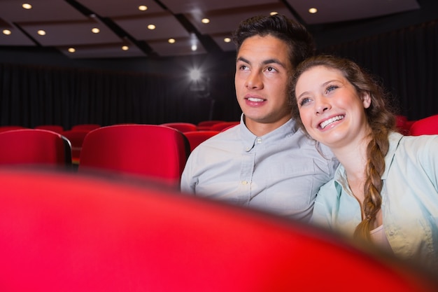
[[[308,221],[337,166],[291,118],[290,75],[313,55],[313,38],[299,23],[271,15],[241,22],[234,42],[241,123],[195,148],[181,190]]]

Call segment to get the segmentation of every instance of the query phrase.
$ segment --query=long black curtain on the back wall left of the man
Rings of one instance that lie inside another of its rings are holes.
[[[218,119],[230,112],[218,111],[218,104],[232,103],[234,109],[237,105],[234,79],[225,75],[213,78],[207,95],[194,92],[190,81],[178,76],[0,64],[0,125],[52,124],[69,129],[81,123]],[[214,93],[219,88],[223,95]],[[239,118],[239,113],[234,116]]]

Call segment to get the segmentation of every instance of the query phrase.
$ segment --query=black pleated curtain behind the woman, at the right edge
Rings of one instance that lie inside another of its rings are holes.
[[[348,57],[390,91],[409,120],[438,113],[438,21],[358,39],[320,50]]]

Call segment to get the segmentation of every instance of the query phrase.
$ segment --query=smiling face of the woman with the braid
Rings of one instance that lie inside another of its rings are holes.
[[[313,139],[337,148],[365,137],[369,95],[360,97],[341,71],[311,67],[299,76],[295,96],[299,116]]]

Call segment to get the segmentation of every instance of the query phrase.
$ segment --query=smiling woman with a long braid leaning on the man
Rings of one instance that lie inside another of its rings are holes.
[[[438,267],[438,135],[395,132],[383,88],[334,56],[300,64],[292,99],[298,123],[340,162],[313,222]]]

